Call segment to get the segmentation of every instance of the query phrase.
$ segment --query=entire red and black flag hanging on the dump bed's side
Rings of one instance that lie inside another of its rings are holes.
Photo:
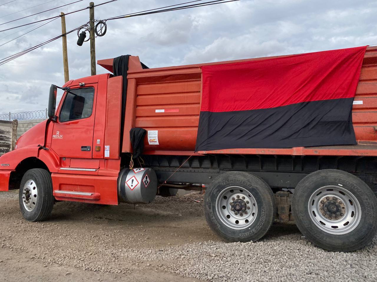
[[[356,144],[366,46],[202,66],[196,151]]]

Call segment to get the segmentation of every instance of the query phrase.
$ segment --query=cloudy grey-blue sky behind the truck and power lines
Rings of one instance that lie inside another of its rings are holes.
[[[0,5],[9,1],[0,0]],[[84,8],[90,2],[2,24],[74,2],[49,1],[15,0],[0,6],[0,30]],[[118,0],[95,8],[95,18],[106,19],[188,1]],[[45,2],[49,3],[27,9]],[[23,9],[26,10],[18,12]],[[124,18],[108,21],[106,35],[96,38],[96,59],[131,54],[138,55],[149,67],[165,67],[372,45],[377,44],[376,14],[375,0],[241,0]],[[67,30],[88,20],[89,10],[67,15]],[[0,32],[0,45],[34,27],[25,28]],[[59,33],[60,18],[0,46],[0,59]],[[77,46],[76,33],[68,35],[67,41],[70,79],[89,76],[89,42]],[[46,108],[49,86],[64,84],[61,49],[58,39],[0,66],[0,114]],[[105,72],[97,66],[97,73]]]

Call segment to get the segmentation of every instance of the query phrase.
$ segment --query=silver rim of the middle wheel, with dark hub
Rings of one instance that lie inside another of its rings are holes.
[[[231,229],[245,229],[255,221],[258,206],[253,195],[239,186],[222,190],[216,199],[216,212],[221,222]]]

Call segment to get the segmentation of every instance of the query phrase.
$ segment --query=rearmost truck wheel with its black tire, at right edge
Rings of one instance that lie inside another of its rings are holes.
[[[358,177],[341,170],[319,170],[304,177],[292,199],[296,225],[314,245],[351,252],[377,233],[377,198]]]

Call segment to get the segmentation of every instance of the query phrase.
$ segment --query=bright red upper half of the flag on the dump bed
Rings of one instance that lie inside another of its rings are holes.
[[[202,67],[201,111],[267,109],[352,98],[366,46]]]

